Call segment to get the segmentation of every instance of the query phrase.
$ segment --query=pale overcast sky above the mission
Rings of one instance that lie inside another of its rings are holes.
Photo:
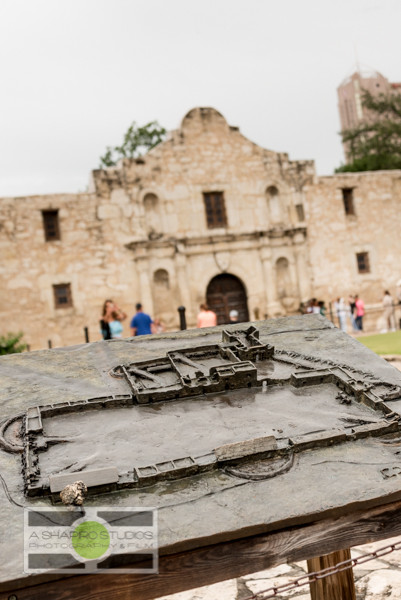
[[[85,190],[135,120],[195,106],[330,174],[336,88],[401,81],[400,0],[0,0],[0,196]]]

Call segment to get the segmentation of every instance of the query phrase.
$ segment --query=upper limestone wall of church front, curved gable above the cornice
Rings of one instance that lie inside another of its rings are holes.
[[[210,235],[202,197],[208,191],[224,192],[228,220],[224,233],[295,225],[300,197],[296,188],[313,176],[312,161],[293,163],[286,154],[247,140],[217,111],[194,109],[184,117],[182,128],[144,159],[124,160],[119,168],[94,171],[94,184],[99,217],[115,218],[110,234],[113,227],[120,227],[122,212],[127,218],[123,232],[132,241],[133,235],[142,239],[152,228],[173,236]],[[280,192],[280,215],[274,222],[266,197],[269,186]],[[157,196],[154,210],[145,206],[148,194]]]

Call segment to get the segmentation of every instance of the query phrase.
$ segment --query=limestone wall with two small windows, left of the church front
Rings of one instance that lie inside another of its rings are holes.
[[[59,209],[61,239],[46,242],[42,210]],[[31,348],[98,339],[100,307],[123,298],[130,276],[121,274],[103,236],[95,195],[31,196],[0,201],[1,331],[23,331]],[[56,309],[53,285],[70,283],[73,307]],[[127,330],[128,335],[128,330]]]

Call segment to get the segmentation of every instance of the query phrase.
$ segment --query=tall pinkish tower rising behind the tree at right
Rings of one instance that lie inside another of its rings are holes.
[[[358,69],[344,79],[337,88],[341,131],[369,120],[369,111],[362,105],[363,90],[368,90],[374,96],[394,91],[401,93],[401,83],[391,83],[381,73],[370,69]],[[343,148],[347,159],[346,144],[343,144]]]

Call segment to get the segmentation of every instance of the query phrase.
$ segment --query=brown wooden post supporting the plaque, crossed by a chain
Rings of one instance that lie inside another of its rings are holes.
[[[310,558],[308,563],[308,573],[321,571],[327,567],[349,560],[351,551],[338,550],[331,554]],[[324,579],[318,579],[309,584],[310,595],[312,600],[355,600],[355,584],[352,568],[329,575]]]

